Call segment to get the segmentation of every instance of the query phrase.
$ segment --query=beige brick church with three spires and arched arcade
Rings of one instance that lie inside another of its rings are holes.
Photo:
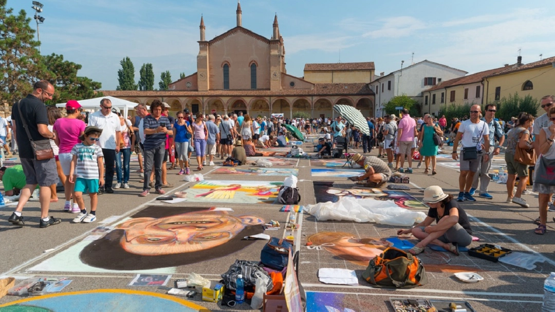
[[[278,17],[274,17],[273,36],[269,39],[241,26],[239,3],[236,19],[235,28],[206,41],[201,17],[197,71],[171,83],[169,90],[103,93],[143,104],[158,98],[169,103],[174,112],[188,108],[204,113],[242,110],[254,116],[284,113],[292,117],[302,112],[308,117],[332,117],[333,105],[347,104],[366,116],[373,115],[375,97],[368,83],[374,74],[374,63],[340,64],[342,69],[332,70],[335,78],[329,80],[325,80],[326,71],[318,68],[334,68],[337,64],[307,64],[313,66],[313,81],[291,76],[285,69],[285,45]],[[367,65],[357,69],[357,64]]]

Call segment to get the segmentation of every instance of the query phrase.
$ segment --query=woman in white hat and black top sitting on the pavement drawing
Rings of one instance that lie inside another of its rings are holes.
[[[425,202],[430,209],[426,219],[412,229],[398,230],[397,235],[412,233],[418,240],[408,252],[417,255],[422,253],[428,244],[436,244],[445,250],[458,255],[458,246],[472,243],[472,229],[465,210],[459,207],[453,195],[443,193],[437,185],[424,190]],[[436,225],[431,225],[436,220]]]

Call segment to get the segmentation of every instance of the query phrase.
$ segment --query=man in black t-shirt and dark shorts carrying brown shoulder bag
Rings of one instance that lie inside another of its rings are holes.
[[[48,217],[50,208],[50,186],[58,182],[56,170],[56,160],[54,158],[36,160],[31,142],[54,139],[56,135],[48,130],[48,114],[45,100],[51,100],[54,95],[54,86],[47,80],[40,80],[33,85],[33,93],[26,98],[19,100],[12,107],[13,135],[19,145],[19,158],[26,177],[26,185],[21,190],[21,196],[17,204],[16,211],[9,217],[8,222],[14,225],[25,225],[21,212],[23,206],[31,198],[33,190],[40,187],[41,202],[41,228],[62,222],[59,218]],[[27,124],[27,129],[31,138],[23,126],[23,120]]]

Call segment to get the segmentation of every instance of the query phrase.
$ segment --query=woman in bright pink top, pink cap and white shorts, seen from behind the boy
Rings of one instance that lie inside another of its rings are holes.
[[[71,160],[73,158],[71,150],[73,146],[80,143],[79,135],[85,131],[85,123],[83,120],[77,119],[81,114],[81,105],[76,100],[68,100],[65,104],[65,111],[67,117],[57,119],[54,123],[54,133],[56,133],[56,145],[59,147],[58,158],[60,165],[62,165],[63,174],[65,174],[65,205],[64,210],[67,212],[79,213],[81,210],[77,203],[71,205],[71,197],[73,194],[73,183],[69,182],[69,168],[71,167]]]

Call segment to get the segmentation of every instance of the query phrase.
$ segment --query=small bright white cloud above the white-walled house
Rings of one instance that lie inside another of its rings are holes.
[[[400,38],[411,36],[426,24],[412,16],[397,16],[380,20],[382,26],[374,31],[365,32],[362,37],[370,38]]]

